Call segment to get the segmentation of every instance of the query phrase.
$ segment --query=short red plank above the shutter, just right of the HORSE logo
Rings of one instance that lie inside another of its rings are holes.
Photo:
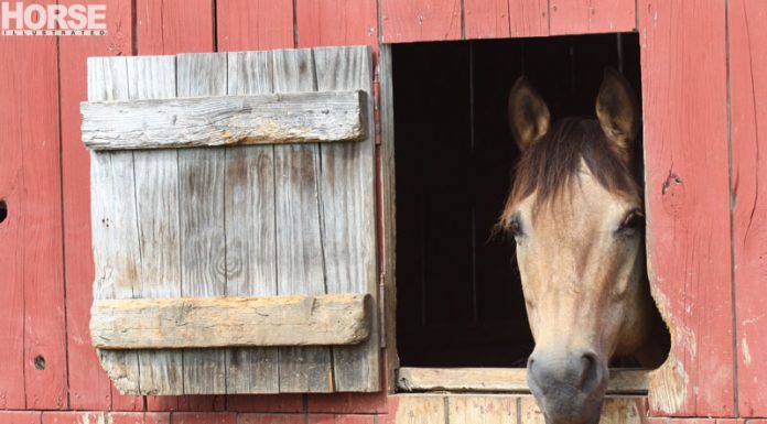
[[[138,53],[213,51],[213,0],[136,0]]]

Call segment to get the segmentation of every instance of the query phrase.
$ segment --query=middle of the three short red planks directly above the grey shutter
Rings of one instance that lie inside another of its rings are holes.
[[[218,51],[293,47],[293,0],[216,2]]]

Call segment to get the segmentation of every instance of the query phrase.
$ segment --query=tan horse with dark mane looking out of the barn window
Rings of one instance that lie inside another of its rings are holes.
[[[642,192],[633,172],[638,116],[629,83],[612,68],[595,119],[552,123],[523,76],[509,93],[521,157],[498,227],[516,241],[536,343],[528,384],[547,424],[597,424],[611,360],[657,367],[668,352],[653,343],[666,327],[645,269]]]

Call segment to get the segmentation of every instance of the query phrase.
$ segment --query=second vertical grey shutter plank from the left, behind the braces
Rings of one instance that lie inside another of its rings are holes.
[[[137,56],[126,61],[130,99],[175,96],[174,57]],[[181,295],[177,156],[174,151],[133,152],[136,226],[142,258],[134,297]],[[141,393],[182,393],[183,362],[180,351],[142,350],[138,354]]]

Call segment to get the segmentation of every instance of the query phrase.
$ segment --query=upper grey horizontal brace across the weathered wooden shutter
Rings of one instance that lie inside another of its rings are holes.
[[[91,150],[359,141],[365,91],[320,91],[80,104]]]

